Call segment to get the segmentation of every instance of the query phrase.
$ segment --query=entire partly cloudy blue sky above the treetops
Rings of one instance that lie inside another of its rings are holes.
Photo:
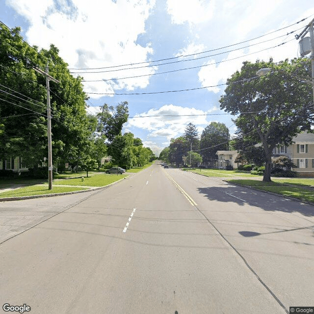
[[[292,25],[303,18],[308,19]],[[233,134],[233,117],[219,109],[224,86],[204,87],[224,84],[246,60],[298,57],[294,35],[313,18],[313,0],[0,1],[3,23],[21,26],[30,45],[48,49],[54,44],[70,71],[79,72],[86,80],[84,90],[90,96],[87,112],[95,113],[105,103],[128,101],[130,117],[177,115],[130,118],[124,125],[123,131],[140,137],[157,155],[172,137],[183,134],[189,122],[196,125],[200,134],[211,121],[225,123]],[[289,25],[292,26],[286,28]],[[288,35],[290,31],[295,32]],[[266,40],[269,41],[261,43]],[[243,41],[247,42],[180,57]],[[270,48],[283,42],[286,44]],[[200,57],[204,58],[197,59]],[[166,58],[173,59],[153,62]],[[173,61],[180,62],[161,64]],[[134,65],[139,62],[148,63]],[[127,66],[108,68],[119,65]],[[194,69],[181,70],[190,67]],[[74,70],[78,68],[87,70]],[[174,72],[158,74],[169,71]],[[192,88],[201,89],[143,94]]]

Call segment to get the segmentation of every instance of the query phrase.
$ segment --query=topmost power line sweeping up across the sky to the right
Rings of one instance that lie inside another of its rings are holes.
[[[312,15],[311,15],[312,16]],[[293,25],[296,25],[296,24],[299,24],[307,19],[309,19],[311,16],[308,16],[307,18],[304,18],[296,23],[293,23],[289,26],[285,26],[285,27],[282,27],[282,28],[279,28],[277,30],[274,30],[274,31],[271,31],[269,33],[266,33],[264,35],[261,35],[261,36],[258,36],[258,37],[255,37],[255,38],[251,38],[251,39],[248,39],[248,40],[245,40],[245,41],[242,41],[242,42],[239,42],[239,43],[236,43],[236,44],[232,44],[232,45],[228,45],[228,46],[224,46],[224,47],[221,47],[221,48],[216,48],[216,49],[211,49],[211,50],[208,50],[208,51],[204,51],[204,52],[196,52],[196,53],[191,53],[191,54],[182,54],[182,55],[178,55],[176,57],[170,57],[170,58],[163,58],[163,59],[159,59],[159,60],[153,60],[153,61],[144,61],[144,62],[134,62],[134,63],[129,63],[129,64],[122,64],[122,65],[115,65],[115,66],[108,66],[108,67],[100,67],[100,68],[69,68],[69,70],[97,70],[97,69],[109,69],[109,68],[117,68],[117,67],[122,67],[122,66],[129,66],[129,65],[137,65],[137,64],[144,64],[144,63],[152,63],[152,62],[159,62],[159,61],[165,61],[165,60],[172,60],[172,59],[176,59],[176,58],[180,58],[180,57],[187,57],[187,56],[192,56],[192,55],[198,55],[198,54],[202,54],[202,53],[207,53],[207,52],[212,52],[212,51],[217,51],[217,50],[221,50],[221,49],[225,49],[225,48],[229,48],[229,47],[233,47],[233,46],[236,46],[236,45],[240,45],[240,44],[244,44],[246,42],[249,42],[249,41],[252,41],[252,40],[255,40],[255,39],[259,39],[259,38],[262,38],[264,36],[267,36],[267,35],[270,35],[270,34],[273,34],[277,31],[280,31],[280,30],[283,30],[283,29],[286,29],[290,26],[293,26]],[[301,27],[302,28],[302,27]],[[294,30],[295,31],[295,30]],[[293,31],[293,32],[294,32]],[[289,33],[288,33],[289,34]],[[288,35],[287,34],[287,35]],[[283,36],[286,36],[286,35],[283,35]],[[156,65],[157,66],[157,65]],[[82,72],[81,72],[82,73]]]

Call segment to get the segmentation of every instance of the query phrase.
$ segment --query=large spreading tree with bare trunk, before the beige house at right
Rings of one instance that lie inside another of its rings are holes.
[[[261,68],[273,72],[256,78]],[[282,72],[284,71],[284,72]],[[307,58],[274,63],[243,62],[227,80],[220,108],[237,115],[235,125],[241,137],[250,143],[261,142],[265,155],[263,181],[269,182],[271,155],[274,147],[290,145],[300,131],[311,130],[314,123],[313,94],[310,84],[300,81],[294,74],[310,77],[311,64]]]

